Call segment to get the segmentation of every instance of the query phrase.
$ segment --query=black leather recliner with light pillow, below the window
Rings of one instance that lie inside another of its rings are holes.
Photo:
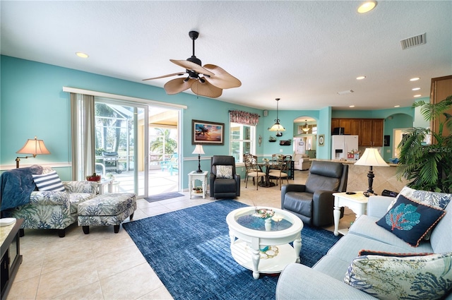
[[[232,166],[232,178],[217,176],[217,166]],[[240,175],[235,172],[235,159],[228,155],[213,155],[210,159],[210,197],[235,198],[240,196]]]

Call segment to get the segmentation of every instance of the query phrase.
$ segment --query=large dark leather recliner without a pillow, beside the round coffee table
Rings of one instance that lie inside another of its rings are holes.
[[[304,224],[315,227],[334,222],[333,193],[347,190],[348,165],[314,161],[306,184],[285,184],[281,189],[281,208],[297,215]],[[343,209],[341,210],[343,217]]]

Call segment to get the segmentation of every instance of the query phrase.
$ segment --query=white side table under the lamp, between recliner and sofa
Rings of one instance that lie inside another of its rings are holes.
[[[338,236],[339,231],[339,219],[340,208],[347,206],[350,210],[353,210],[356,214],[356,218],[360,215],[365,215],[367,212],[367,201],[369,198],[364,196],[362,192],[355,192],[353,195],[347,195],[347,193],[333,193],[334,196],[334,235]],[[342,232],[341,232],[342,233]],[[346,234],[346,232],[344,232]]]

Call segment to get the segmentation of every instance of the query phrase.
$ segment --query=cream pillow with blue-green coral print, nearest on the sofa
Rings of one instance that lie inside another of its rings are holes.
[[[452,290],[452,252],[404,258],[359,256],[344,282],[378,299],[442,299]]]

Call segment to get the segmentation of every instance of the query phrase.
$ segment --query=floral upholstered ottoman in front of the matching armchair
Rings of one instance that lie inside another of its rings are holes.
[[[119,232],[119,225],[136,210],[135,193],[105,193],[78,204],[78,226],[85,234],[90,233],[91,226],[114,226],[114,233]]]

